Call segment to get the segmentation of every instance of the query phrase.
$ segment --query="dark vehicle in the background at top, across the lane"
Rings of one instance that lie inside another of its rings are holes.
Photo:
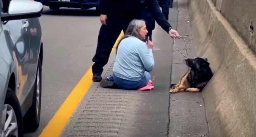
[[[99,11],[100,0],[35,0],[41,2],[45,6],[49,6],[50,9],[59,9],[60,7],[67,8],[81,8],[90,9],[96,7],[96,11]]]

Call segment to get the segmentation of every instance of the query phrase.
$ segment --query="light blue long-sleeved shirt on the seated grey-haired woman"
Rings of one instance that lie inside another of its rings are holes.
[[[125,80],[141,80],[145,71],[154,68],[153,50],[147,48],[147,44],[136,37],[123,39],[117,50],[114,74]]]

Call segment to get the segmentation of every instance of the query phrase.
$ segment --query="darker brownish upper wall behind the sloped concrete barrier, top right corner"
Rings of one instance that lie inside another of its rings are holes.
[[[213,0],[213,3],[256,53],[256,0]]]

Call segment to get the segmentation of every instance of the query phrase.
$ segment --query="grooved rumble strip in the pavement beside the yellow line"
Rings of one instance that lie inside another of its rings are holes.
[[[106,71],[112,72],[114,62]],[[98,85],[83,105],[83,111],[72,127],[68,137],[118,137],[119,128],[130,93],[120,89],[104,89]]]

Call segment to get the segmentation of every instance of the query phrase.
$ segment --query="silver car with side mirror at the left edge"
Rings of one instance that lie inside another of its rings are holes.
[[[39,126],[43,42],[33,0],[0,0],[0,137]]]

